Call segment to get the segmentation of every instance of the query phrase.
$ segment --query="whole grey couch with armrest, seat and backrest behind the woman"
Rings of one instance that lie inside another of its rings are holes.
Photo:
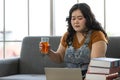
[[[20,57],[0,60],[0,80],[46,80],[45,67],[65,67],[39,52],[42,36],[28,36],[22,41]],[[57,50],[60,36],[48,36],[51,48]],[[110,37],[106,56],[120,58],[120,37]]]

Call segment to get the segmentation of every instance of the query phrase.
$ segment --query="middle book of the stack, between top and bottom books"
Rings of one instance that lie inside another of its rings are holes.
[[[116,72],[120,72],[120,66],[119,67],[110,67],[110,68],[93,67],[93,66],[89,67],[89,73],[112,74],[112,73],[116,73]]]

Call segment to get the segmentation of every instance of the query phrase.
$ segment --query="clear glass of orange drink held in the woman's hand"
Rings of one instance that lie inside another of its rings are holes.
[[[41,53],[47,54],[49,49],[49,38],[41,37],[41,44],[42,44]]]

